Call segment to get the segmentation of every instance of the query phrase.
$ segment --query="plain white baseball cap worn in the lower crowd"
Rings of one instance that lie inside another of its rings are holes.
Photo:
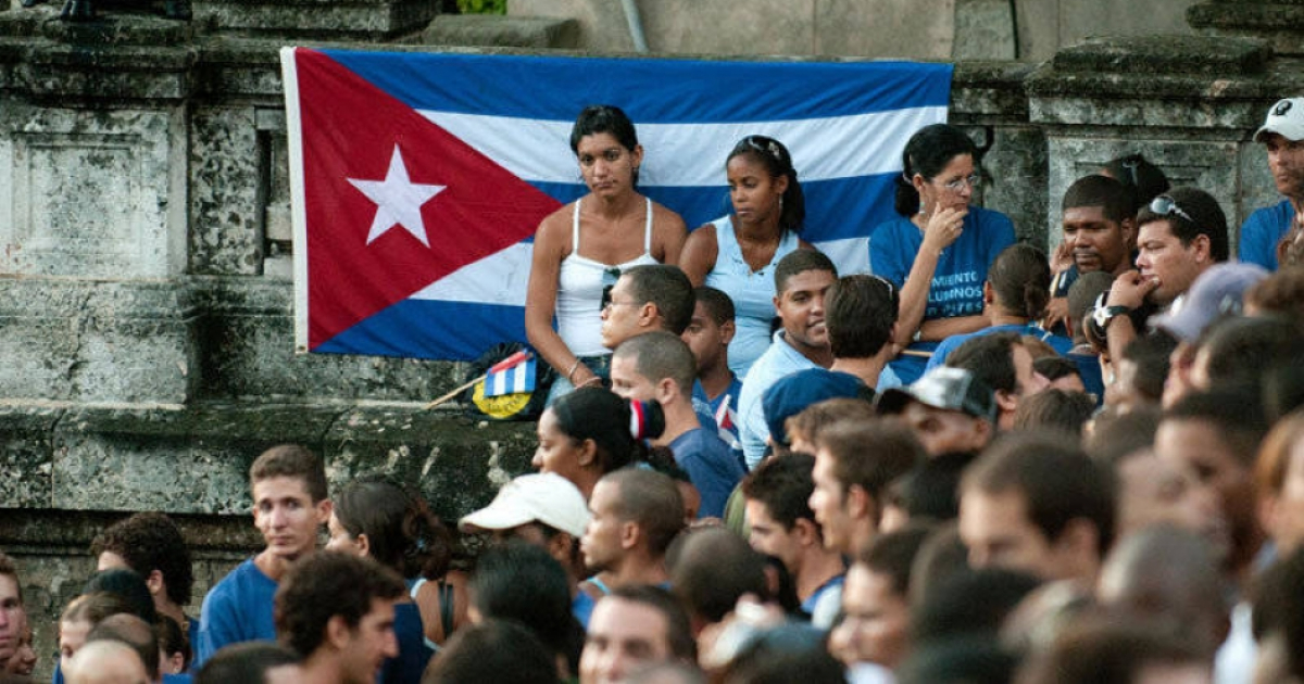
[[[493,503],[463,517],[458,528],[505,530],[537,521],[578,538],[584,535],[588,519],[588,503],[570,479],[533,473],[503,485]]]

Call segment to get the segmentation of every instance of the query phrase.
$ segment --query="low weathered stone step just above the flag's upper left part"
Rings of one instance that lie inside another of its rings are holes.
[[[579,43],[579,22],[554,17],[442,14],[421,33],[425,46],[569,48]]]

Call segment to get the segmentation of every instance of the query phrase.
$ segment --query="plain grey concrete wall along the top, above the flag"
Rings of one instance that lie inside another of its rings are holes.
[[[636,4],[648,47],[662,53],[1045,60],[1060,47],[1088,36],[1191,34],[1185,12],[1196,1],[639,0]],[[582,50],[634,50],[622,4],[615,0],[512,0],[507,12],[515,17],[576,20]]]

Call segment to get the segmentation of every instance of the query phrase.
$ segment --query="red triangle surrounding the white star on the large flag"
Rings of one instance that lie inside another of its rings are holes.
[[[303,48],[295,56],[310,349],[532,236],[561,206],[329,56]],[[413,235],[412,220],[372,229],[381,207],[361,188],[394,180],[395,149],[411,184],[443,186],[419,208],[429,246]]]

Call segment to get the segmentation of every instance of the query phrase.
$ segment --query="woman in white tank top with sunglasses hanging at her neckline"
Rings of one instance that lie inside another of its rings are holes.
[[[585,107],[570,145],[588,193],[539,224],[526,294],[529,344],[558,375],[549,403],[574,387],[601,384],[609,373],[604,289],[623,268],[678,263],[687,235],[678,214],[638,192],[643,146],[623,111]]]

